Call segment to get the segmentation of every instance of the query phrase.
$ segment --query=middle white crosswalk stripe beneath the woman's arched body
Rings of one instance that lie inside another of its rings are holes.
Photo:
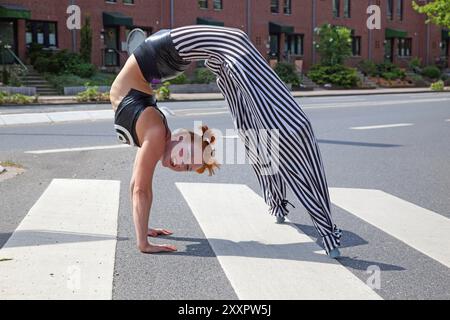
[[[381,299],[245,185],[176,183],[240,299]]]

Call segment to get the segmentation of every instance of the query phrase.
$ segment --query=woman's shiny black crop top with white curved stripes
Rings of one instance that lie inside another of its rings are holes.
[[[136,89],[131,89],[120,102],[114,116],[114,128],[120,142],[131,146],[141,146],[136,134],[136,123],[142,111],[148,107],[154,107],[159,111],[163,118],[166,130],[169,130],[167,119],[164,113],[158,109],[155,96]]]

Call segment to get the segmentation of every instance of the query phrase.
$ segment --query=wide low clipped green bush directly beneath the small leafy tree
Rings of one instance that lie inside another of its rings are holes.
[[[340,64],[334,66],[314,65],[308,72],[308,77],[320,85],[333,84],[342,88],[354,88],[359,83],[356,69]]]

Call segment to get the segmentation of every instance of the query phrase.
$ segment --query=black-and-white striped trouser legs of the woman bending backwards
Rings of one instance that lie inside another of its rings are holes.
[[[288,186],[310,214],[326,252],[338,247],[341,230],[332,220],[327,180],[311,123],[246,33],[229,27],[189,25],[172,29],[171,37],[183,59],[205,60],[205,66],[217,76],[269,212],[288,214]],[[248,132],[272,129],[278,129],[279,154],[269,159],[278,164],[277,170],[268,174],[261,138]]]

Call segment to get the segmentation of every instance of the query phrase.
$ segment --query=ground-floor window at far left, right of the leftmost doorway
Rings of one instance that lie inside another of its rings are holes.
[[[27,21],[25,41],[40,44],[46,48],[57,47],[56,22],[49,21]]]

